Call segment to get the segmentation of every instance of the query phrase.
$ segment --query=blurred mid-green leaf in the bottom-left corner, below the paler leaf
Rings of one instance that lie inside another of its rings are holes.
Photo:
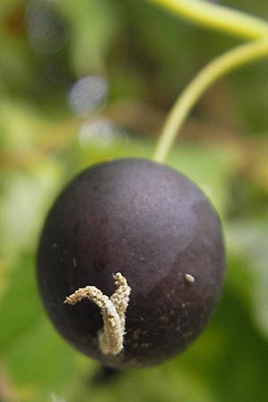
[[[7,290],[0,301],[0,359],[12,375],[21,402],[46,401],[49,390],[67,392],[80,366],[78,354],[46,318],[34,264],[34,255],[21,255],[7,276]]]

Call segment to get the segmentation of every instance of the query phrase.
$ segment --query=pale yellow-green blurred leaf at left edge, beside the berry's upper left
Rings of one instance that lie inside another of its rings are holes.
[[[2,176],[0,250],[6,259],[36,245],[44,211],[52,204],[62,176],[53,160],[40,163],[33,172],[8,172]]]

